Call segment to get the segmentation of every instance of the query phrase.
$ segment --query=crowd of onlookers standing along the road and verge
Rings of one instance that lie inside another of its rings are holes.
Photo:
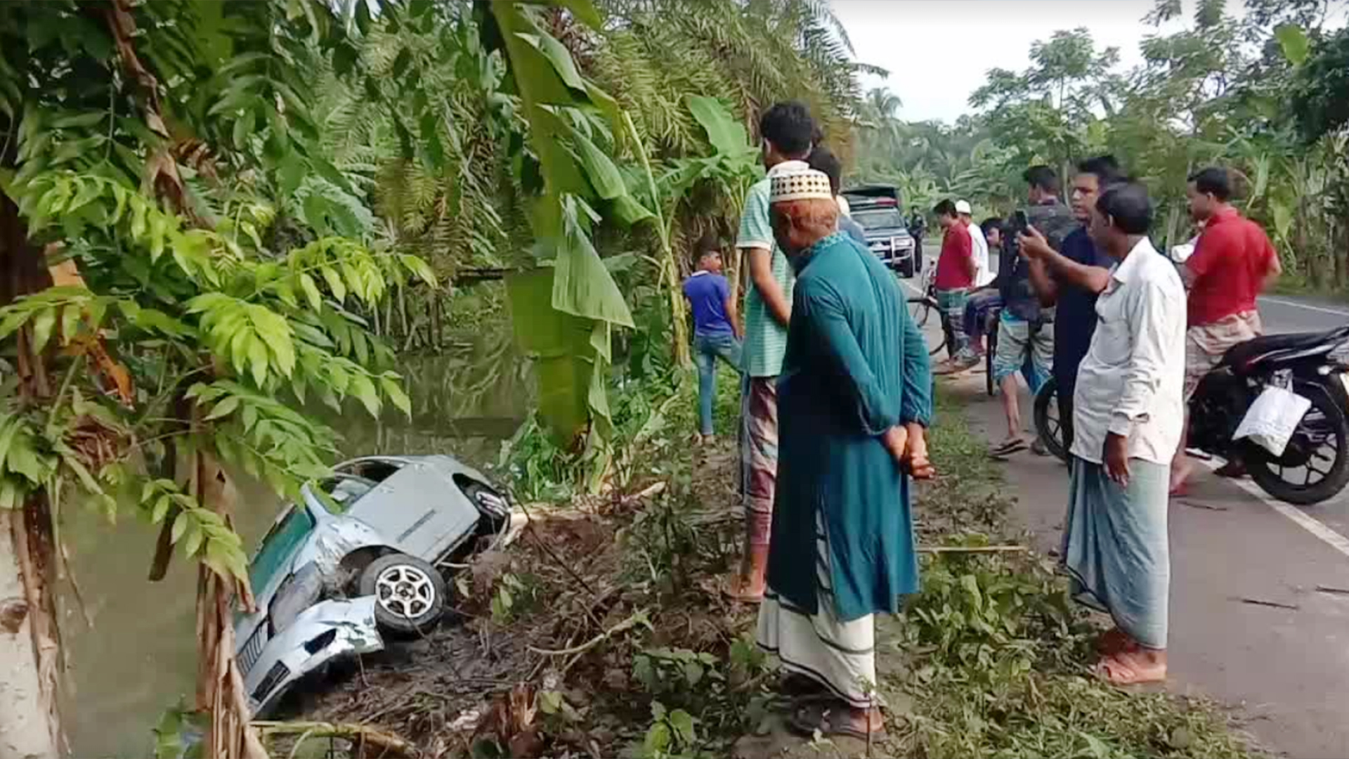
[[[1005,221],[975,224],[969,203],[943,200],[934,284],[952,338],[934,369],[894,276],[849,219],[842,166],[809,112],[776,104],[759,135],[768,176],[749,190],[735,240],[743,321],[710,238],[684,292],[700,439],[712,434],[716,362],[742,374],[745,547],[726,593],[761,604],[758,642],[789,673],[793,724],[884,729],[873,614],[897,610],[919,583],[909,479],[935,474],[932,374],[967,371],[986,350],[1008,425],[994,456],[1039,448],[1018,396],[1023,380],[1031,393],[1054,380],[1071,452],[1060,560],[1075,597],[1116,623],[1098,674],[1164,679],[1167,501],[1190,469],[1186,401],[1229,347],[1260,332],[1256,296],[1280,270],[1260,227],[1229,204],[1228,173],[1190,178],[1202,234],[1183,265],[1152,247],[1148,192],[1108,155],[1078,165],[1070,203],[1054,169],[1032,166],[1027,204]],[[987,324],[996,347],[983,344]]]

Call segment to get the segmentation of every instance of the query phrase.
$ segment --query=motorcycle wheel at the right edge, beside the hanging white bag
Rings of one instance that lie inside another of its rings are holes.
[[[1336,396],[1315,382],[1294,382],[1311,401],[1282,456],[1248,443],[1246,471],[1265,493],[1299,506],[1319,504],[1349,483],[1349,417]],[[1327,447],[1333,450],[1327,451]],[[1313,479],[1319,475],[1318,479]],[[1302,481],[1300,483],[1298,481]]]

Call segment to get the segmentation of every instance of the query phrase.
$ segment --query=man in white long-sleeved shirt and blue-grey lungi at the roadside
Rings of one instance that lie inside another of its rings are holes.
[[[1167,677],[1167,488],[1184,416],[1184,285],[1148,242],[1152,204],[1137,184],[1091,211],[1098,250],[1118,263],[1072,397],[1072,475],[1063,566],[1074,597],[1109,612],[1098,673],[1116,685]]]

